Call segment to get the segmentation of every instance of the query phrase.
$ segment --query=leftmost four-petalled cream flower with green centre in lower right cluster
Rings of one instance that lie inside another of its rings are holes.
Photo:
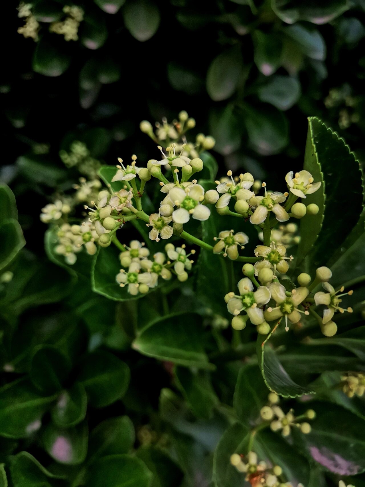
[[[254,292],[252,281],[245,277],[238,284],[239,296],[232,295],[227,302],[227,309],[231,315],[239,315],[241,311],[246,311],[250,321],[254,325],[260,325],[265,321],[264,312],[258,304],[267,304],[270,301],[270,290],[266,286],[260,286]]]

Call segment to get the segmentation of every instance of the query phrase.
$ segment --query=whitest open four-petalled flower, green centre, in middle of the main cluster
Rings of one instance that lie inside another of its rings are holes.
[[[195,220],[208,220],[210,209],[201,205],[204,200],[204,188],[199,184],[183,187],[173,187],[168,193],[171,203],[179,206],[172,213],[172,219],[175,223],[184,224],[190,219],[190,215]]]

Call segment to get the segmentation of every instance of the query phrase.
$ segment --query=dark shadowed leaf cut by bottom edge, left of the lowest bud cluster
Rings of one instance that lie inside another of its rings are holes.
[[[180,486],[183,472],[164,450],[144,445],[137,450],[136,455],[153,474],[151,487]]]

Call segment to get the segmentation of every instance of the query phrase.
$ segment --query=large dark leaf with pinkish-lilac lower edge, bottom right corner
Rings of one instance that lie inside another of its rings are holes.
[[[309,434],[293,431],[295,442],[306,455],[337,475],[365,471],[365,420],[347,409],[327,402],[311,402],[316,418]]]

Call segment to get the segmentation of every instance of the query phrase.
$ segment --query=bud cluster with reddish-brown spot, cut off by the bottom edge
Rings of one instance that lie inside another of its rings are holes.
[[[245,480],[252,487],[292,487],[291,483],[282,483],[278,479],[283,473],[281,467],[278,465],[269,467],[264,461],[258,462],[254,451],[249,451],[247,455],[234,453],[230,457],[230,463],[238,472],[246,474]],[[299,484],[298,487],[303,486]]]

